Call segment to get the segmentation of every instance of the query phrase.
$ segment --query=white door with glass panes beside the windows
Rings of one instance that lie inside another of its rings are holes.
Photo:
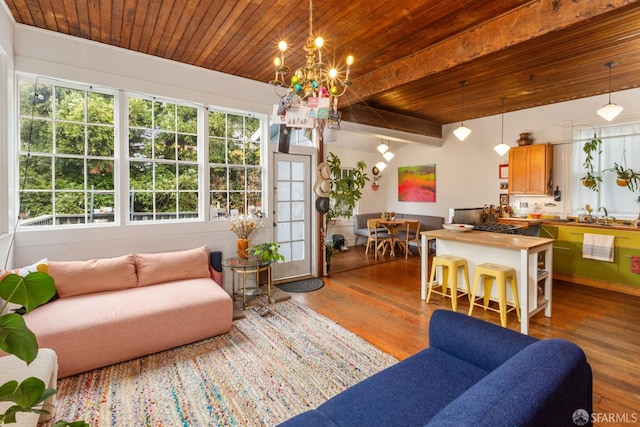
[[[284,263],[274,264],[274,279],[311,274],[311,156],[274,154],[274,234]]]

